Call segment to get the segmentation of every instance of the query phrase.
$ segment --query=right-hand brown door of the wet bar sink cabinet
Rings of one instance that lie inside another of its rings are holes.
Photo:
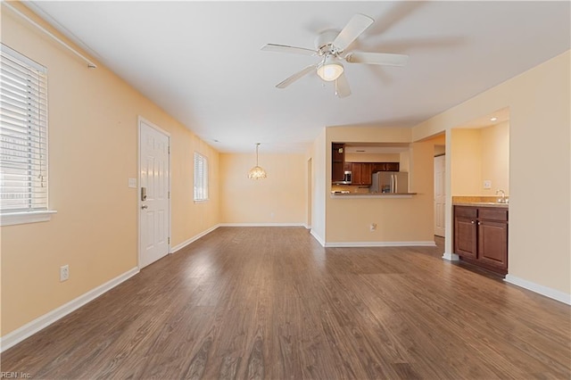
[[[508,223],[478,221],[478,260],[508,269]]]

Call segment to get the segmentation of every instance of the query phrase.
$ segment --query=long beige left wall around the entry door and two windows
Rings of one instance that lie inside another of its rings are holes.
[[[138,177],[138,116],[170,133],[171,246],[219,223],[219,157],[102,64],[87,69],[4,8],[2,41],[48,70],[49,204],[57,211],[48,222],[2,227],[4,336],[137,267],[137,189],[128,178]],[[194,150],[211,160],[203,204],[192,201]],[[64,264],[70,279],[60,283]]]

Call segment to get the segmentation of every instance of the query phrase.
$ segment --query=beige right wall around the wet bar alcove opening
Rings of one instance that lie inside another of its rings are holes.
[[[567,295],[571,294],[570,56],[569,51],[560,54],[412,131],[414,140],[442,131],[449,135],[469,120],[509,107],[509,277]],[[542,173],[542,180],[531,173]],[[549,191],[543,184],[549,184]],[[451,252],[449,234],[447,252]]]

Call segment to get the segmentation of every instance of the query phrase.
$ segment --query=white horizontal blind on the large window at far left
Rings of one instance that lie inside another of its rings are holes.
[[[46,68],[1,45],[0,213],[47,210]]]

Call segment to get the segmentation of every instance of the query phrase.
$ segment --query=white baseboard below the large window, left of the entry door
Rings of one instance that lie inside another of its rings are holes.
[[[129,269],[122,275],[115,277],[112,280],[107,281],[105,284],[99,285],[89,292],[80,295],[75,300],[71,300],[59,308],[49,311],[43,316],[36,318],[26,325],[12,331],[12,333],[0,337],[0,352],[3,352],[14,345],[21,343],[21,341],[24,339],[36,334],[43,328],[50,326],[58,319],[61,319],[70,314],[70,312],[78,310],[80,307],[87,304],[87,302],[95,300],[95,298],[99,297],[101,294],[110,291],[115,286],[120,285],[124,281],[127,281],[130,277],[137,275],[137,273],[139,273],[138,267]]]

